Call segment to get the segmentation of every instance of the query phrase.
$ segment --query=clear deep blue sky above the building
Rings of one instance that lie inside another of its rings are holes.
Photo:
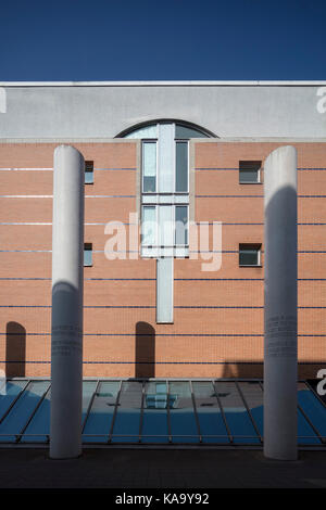
[[[4,0],[0,80],[326,79],[325,0]]]

